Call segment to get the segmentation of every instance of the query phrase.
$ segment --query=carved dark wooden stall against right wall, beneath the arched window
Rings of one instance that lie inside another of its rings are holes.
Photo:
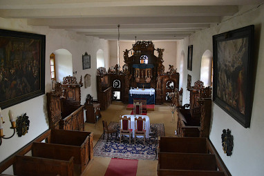
[[[209,137],[211,88],[205,88],[202,81],[196,81],[194,87],[189,90],[190,104],[177,108],[177,135],[178,137]]]

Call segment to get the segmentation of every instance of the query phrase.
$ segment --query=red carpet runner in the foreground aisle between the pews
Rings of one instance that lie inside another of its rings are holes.
[[[136,176],[138,160],[112,158],[104,176]]]

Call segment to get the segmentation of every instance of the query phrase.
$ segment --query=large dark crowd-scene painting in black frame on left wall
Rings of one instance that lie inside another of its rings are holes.
[[[0,107],[45,93],[46,36],[0,30]]]

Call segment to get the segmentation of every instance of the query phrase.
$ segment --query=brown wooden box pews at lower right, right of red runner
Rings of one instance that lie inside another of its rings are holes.
[[[231,175],[205,137],[160,137],[157,171],[159,176]]]

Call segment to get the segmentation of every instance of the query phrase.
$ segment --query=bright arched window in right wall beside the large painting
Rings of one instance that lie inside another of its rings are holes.
[[[206,50],[202,55],[202,61],[200,66],[200,80],[204,82],[204,85],[206,87],[211,86],[212,60],[213,54],[210,50]]]

